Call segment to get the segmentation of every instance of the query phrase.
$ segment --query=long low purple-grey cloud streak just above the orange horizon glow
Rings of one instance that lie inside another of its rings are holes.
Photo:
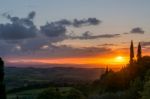
[[[83,47],[74,48],[71,46],[49,45],[46,49],[38,50],[35,53],[28,54],[27,56],[35,58],[68,58],[68,57],[91,57],[111,52],[111,49],[105,47]]]

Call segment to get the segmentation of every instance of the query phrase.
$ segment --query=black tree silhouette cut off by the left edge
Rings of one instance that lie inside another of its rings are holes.
[[[0,99],[6,99],[4,83],[4,62],[0,57]]]

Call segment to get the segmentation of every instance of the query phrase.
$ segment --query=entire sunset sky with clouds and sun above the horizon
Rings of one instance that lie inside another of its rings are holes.
[[[150,55],[149,9],[149,0],[1,0],[0,56],[8,66],[125,65],[131,40]]]

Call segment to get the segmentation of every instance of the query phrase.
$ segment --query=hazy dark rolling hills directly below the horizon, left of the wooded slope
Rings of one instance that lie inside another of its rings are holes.
[[[104,73],[103,68],[19,68],[6,67],[5,80],[7,89],[44,83],[87,83],[94,81]]]

